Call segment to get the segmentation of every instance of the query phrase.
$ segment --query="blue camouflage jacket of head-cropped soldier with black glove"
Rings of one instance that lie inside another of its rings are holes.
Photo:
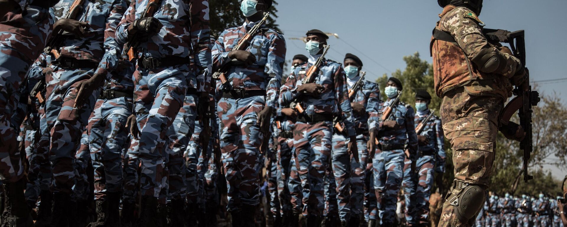
[[[146,11],[148,0],[135,0],[122,17],[116,39],[120,44],[128,42],[128,26],[140,19]],[[161,58],[168,55],[193,58],[199,71],[190,75],[188,82],[197,91],[210,91],[210,37],[209,8],[207,0],[162,0],[153,15],[163,24],[157,35],[151,36],[137,48],[138,58]],[[151,15],[148,15],[151,16]]]

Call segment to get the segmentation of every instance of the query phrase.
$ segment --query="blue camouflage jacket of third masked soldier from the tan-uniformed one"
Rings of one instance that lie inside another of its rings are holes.
[[[358,79],[358,77],[352,79],[353,85],[358,81]],[[350,81],[351,79],[346,78],[346,80]],[[352,89],[349,83],[347,83],[347,87],[349,91]],[[367,113],[366,115],[360,116],[353,112],[354,127],[364,131],[369,128],[376,128],[379,119],[378,111],[376,111],[378,108],[376,107],[382,102],[382,100],[380,100],[380,89],[378,88],[378,83],[363,81],[362,86],[358,89],[358,91],[356,91],[356,93],[354,93],[354,97],[351,97],[350,100],[354,103],[362,104]]]

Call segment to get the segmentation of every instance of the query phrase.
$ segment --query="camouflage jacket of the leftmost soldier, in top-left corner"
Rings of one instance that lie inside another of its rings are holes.
[[[47,1],[47,0],[35,0]],[[0,22],[0,45],[10,47],[5,54],[24,58],[28,63],[43,52],[51,35],[53,19],[44,7],[30,6],[33,0],[16,0],[20,6],[5,15]],[[8,53],[9,52],[9,53]]]

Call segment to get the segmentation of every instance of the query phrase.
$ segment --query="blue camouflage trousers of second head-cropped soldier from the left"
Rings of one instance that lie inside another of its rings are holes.
[[[45,77],[45,115],[50,135],[49,161],[53,174],[50,189],[53,192],[71,194],[75,184],[75,154],[99,92],[91,94],[83,106],[73,106],[78,83],[90,79],[92,74],[92,68],[58,67]]]

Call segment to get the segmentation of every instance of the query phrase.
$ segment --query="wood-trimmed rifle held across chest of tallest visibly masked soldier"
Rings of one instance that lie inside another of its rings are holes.
[[[254,27],[252,27],[250,29],[250,31],[248,31],[246,33],[246,35],[244,35],[244,37],[241,40],[238,41],[236,46],[234,48],[232,48],[232,51],[246,51],[246,49],[248,48],[248,46],[252,42],[253,37],[256,35],[257,32],[260,31],[260,28],[264,25],[264,23],[266,23],[268,16],[270,16],[270,13],[264,12],[264,18],[262,18],[262,20],[260,20],[260,22],[256,23],[254,25]],[[221,80],[222,87],[226,89],[229,85],[229,81],[226,78],[225,74],[233,65],[238,65],[238,64],[240,64],[240,62],[238,60],[232,59],[227,64],[221,66],[221,68],[218,69],[217,72],[215,72],[213,74],[213,79]]]

